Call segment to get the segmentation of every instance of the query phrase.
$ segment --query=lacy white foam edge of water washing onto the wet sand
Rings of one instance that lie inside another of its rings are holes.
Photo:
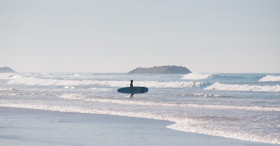
[[[107,110],[97,110],[95,107],[86,109],[84,107],[78,106],[52,106],[52,105],[36,105],[36,104],[3,104],[0,103],[0,106],[4,107],[19,107],[19,108],[30,108],[30,109],[44,109],[44,110],[53,110],[61,112],[79,112],[79,113],[92,113],[92,114],[111,114],[119,116],[129,116],[129,117],[139,117],[139,118],[150,118],[150,119],[159,119],[159,120],[168,120],[174,121],[176,124],[167,126],[167,128],[202,133],[208,135],[223,136],[227,138],[236,138],[240,140],[249,140],[255,142],[268,142],[274,144],[280,144],[280,139],[275,138],[276,135],[258,135],[256,133],[247,133],[246,131],[229,131],[224,128],[211,125],[208,121],[199,120],[199,119],[190,119],[190,118],[180,118],[169,115],[160,115],[147,112],[118,112],[118,111],[107,111]]]

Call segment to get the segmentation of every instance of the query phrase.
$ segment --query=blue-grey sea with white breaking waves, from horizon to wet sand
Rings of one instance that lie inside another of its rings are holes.
[[[134,86],[147,93],[118,93]],[[280,74],[0,74],[0,106],[174,121],[180,131],[280,144]]]

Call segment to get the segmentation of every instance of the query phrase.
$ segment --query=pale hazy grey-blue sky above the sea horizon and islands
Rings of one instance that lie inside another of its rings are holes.
[[[280,72],[280,1],[0,0],[0,67],[17,72]]]

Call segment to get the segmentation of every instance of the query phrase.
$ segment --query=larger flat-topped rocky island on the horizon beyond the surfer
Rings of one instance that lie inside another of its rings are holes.
[[[136,68],[127,74],[189,74],[192,73],[189,69],[182,66],[165,65],[165,66],[154,66],[149,68]]]

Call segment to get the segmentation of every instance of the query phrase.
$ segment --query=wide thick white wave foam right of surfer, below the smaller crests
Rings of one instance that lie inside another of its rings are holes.
[[[214,83],[204,88],[205,90],[224,90],[224,91],[263,91],[263,92],[280,92],[280,86],[259,86],[259,85],[227,85]]]

